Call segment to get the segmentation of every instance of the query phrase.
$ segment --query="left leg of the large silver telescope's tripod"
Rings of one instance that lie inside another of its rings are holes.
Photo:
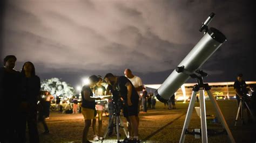
[[[191,119],[191,115],[192,115],[193,108],[194,108],[194,102],[196,102],[196,95],[197,95],[197,91],[192,91],[190,104],[188,105],[187,115],[186,115],[186,118],[184,121],[183,129],[182,129],[180,140],[179,140],[180,143],[183,143],[185,141],[186,130],[188,128],[188,125],[190,125],[190,119]]]

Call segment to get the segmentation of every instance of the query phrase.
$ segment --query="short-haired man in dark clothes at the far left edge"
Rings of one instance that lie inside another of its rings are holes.
[[[3,60],[4,67],[0,68],[0,142],[18,142],[16,137],[21,104],[21,73],[14,69],[16,61],[16,56],[7,55]],[[6,107],[9,110],[4,110]]]

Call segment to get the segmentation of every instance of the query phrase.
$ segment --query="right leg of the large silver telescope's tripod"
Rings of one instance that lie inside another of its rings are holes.
[[[208,94],[209,98],[211,99],[211,102],[212,102],[212,104],[213,104],[213,106],[214,106],[214,108],[215,108],[215,110],[216,110],[216,112],[218,114],[218,117],[219,117],[219,119],[221,121],[221,124],[224,126],[224,128],[225,128],[225,130],[226,130],[226,132],[228,134],[228,137],[230,138],[230,141],[231,142],[235,142],[234,137],[233,137],[233,135],[232,135],[232,133],[230,131],[230,128],[228,128],[226,120],[225,120],[225,118],[223,116],[223,113],[221,112],[217,101],[215,100],[214,96],[212,95],[211,89],[207,90],[207,94]]]

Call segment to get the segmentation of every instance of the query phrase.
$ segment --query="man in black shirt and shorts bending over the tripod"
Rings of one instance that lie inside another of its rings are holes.
[[[128,122],[128,135],[124,142],[140,142],[138,137],[138,92],[134,88],[131,81],[125,76],[114,76],[111,73],[105,75],[104,79],[107,83],[112,85],[113,89],[124,99],[123,113]],[[130,136],[134,133],[133,140]]]

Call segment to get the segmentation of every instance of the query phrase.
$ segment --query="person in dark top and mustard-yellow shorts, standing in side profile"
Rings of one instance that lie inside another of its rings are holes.
[[[96,75],[92,75],[89,77],[90,84],[84,85],[81,91],[82,95],[82,114],[85,120],[85,126],[83,130],[83,138],[82,142],[87,143],[90,142],[87,140],[87,135],[89,132],[89,128],[91,126],[91,121],[95,117],[95,100],[99,100],[100,98],[92,98],[93,92],[91,88],[94,88],[96,83],[99,81],[99,78]]]

